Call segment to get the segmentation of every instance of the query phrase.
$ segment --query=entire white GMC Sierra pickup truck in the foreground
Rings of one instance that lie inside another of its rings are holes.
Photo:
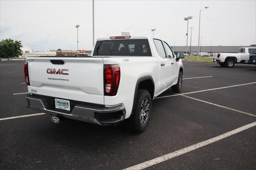
[[[92,56],[27,57],[28,108],[98,125],[146,129],[155,97],[182,87],[182,53],[152,36],[98,39]]]

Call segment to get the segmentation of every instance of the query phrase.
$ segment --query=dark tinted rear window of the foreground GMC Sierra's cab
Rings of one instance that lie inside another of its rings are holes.
[[[94,56],[152,56],[148,39],[97,41]]]

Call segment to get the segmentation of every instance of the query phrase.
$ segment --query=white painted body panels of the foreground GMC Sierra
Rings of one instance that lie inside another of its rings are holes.
[[[75,100],[114,107],[123,105],[125,119],[130,117],[134,102],[136,83],[141,77],[149,76],[154,81],[154,97],[157,97],[178,81],[182,60],[162,58],[157,52],[152,36],[131,36],[130,39],[147,39],[152,56],[93,56],[92,57],[28,57],[30,86],[28,92],[67,100]],[[100,38],[97,41],[111,40]],[[95,48],[95,47],[94,47]],[[63,60],[63,65],[54,65],[50,59]],[[161,66],[164,63],[164,66]],[[104,95],[104,65],[118,64],[120,83],[117,94]],[[46,70],[68,69],[69,75],[48,74]],[[54,78],[54,79],[48,79]],[[61,79],[61,80],[55,80]],[[68,79],[62,80],[62,79]]]

